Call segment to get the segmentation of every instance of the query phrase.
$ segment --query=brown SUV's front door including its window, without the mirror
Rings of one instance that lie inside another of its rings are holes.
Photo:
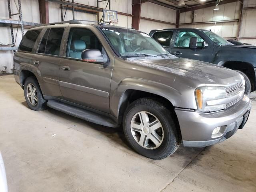
[[[82,51],[98,49],[106,54],[98,37],[88,28],[70,28],[65,56],[60,61],[60,90],[65,100],[110,112],[109,93],[113,62],[82,60]]]

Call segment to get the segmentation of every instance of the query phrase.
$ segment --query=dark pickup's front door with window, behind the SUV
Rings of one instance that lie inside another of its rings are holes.
[[[197,38],[196,49],[189,48],[190,38]],[[199,36],[196,32],[190,30],[180,30],[176,37],[176,40],[172,44],[171,54],[176,55],[177,57],[195,59],[205,62],[212,62],[212,44],[208,43],[208,47],[202,47],[205,40]]]

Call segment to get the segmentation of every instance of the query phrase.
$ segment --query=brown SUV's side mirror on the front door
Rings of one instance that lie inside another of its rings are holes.
[[[86,49],[82,52],[82,60],[86,62],[106,63],[108,62],[108,57],[98,49]]]

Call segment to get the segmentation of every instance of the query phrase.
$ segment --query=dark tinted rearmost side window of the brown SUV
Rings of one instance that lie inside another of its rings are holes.
[[[20,42],[18,50],[32,52],[36,39],[38,38],[38,35],[41,31],[42,30],[31,30],[26,32],[26,34],[22,38],[22,41]]]

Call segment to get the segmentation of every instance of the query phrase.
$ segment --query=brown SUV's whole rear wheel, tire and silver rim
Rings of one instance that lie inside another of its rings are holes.
[[[47,108],[35,76],[28,77],[24,84],[24,96],[30,109],[42,111]]]

